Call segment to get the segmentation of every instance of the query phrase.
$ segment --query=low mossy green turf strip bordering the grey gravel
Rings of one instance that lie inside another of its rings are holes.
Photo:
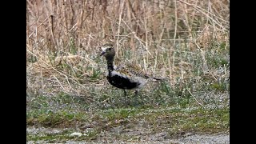
[[[84,134],[83,136],[70,137],[70,134],[79,131],[77,122],[94,124],[89,131],[80,130]],[[139,123],[143,123],[143,125],[140,126]],[[111,130],[118,126],[124,126],[130,130],[139,127],[140,130],[149,130],[150,134],[166,130],[170,137],[175,137],[186,132],[226,132],[230,128],[230,110],[229,107],[219,109],[186,106],[184,108],[178,105],[92,111],[59,110],[54,114],[44,114],[40,110],[32,110],[27,114],[27,126],[71,128],[71,130],[64,130],[60,134],[27,134],[27,141],[90,141],[100,138],[102,131],[108,131],[111,134]],[[130,138],[126,134],[122,134],[122,136],[111,134],[111,137],[113,136],[122,139]],[[136,139],[135,136],[134,139]]]

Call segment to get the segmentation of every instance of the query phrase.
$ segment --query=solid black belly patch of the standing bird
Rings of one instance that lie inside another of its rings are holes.
[[[139,83],[138,82],[130,82],[128,78],[123,78],[118,75],[107,76],[107,80],[110,82],[112,86],[118,87],[120,89],[131,90],[136,88]]]

